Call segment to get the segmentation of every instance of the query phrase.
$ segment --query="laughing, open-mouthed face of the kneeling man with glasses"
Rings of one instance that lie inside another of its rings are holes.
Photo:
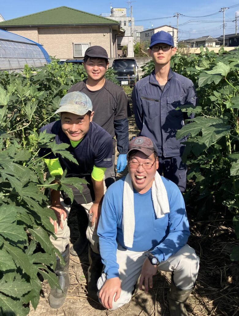
[[[149,162],[153,164],[153,166],[151,169],[144,169],[142,166],[138,166],[138,168],[131,168],[129,165],[129,162],[138,162],[140,165],[143,163]],[[158,158],[157,157],[155,158],[154,153],[148,157],[141,151],[136,151],[135,153],[133,152],[132,155],[129,156],[129,160],[128,160],[129,174],[132,179],[133,187],[140,194],[144,194],[147,191],[149,191],[149,189],[152,186],[157,169],[158,169]]]

